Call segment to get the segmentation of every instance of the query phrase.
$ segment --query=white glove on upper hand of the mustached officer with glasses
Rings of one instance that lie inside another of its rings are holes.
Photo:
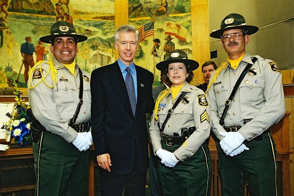
[[[221,149],[224,151],[226,155],[231,154],[231,152],[236,149],[237,147],[240,147],[245,137],[241,135],[238,131],[236,132],[219,132],[220,135],[225,136],[221,142]]]

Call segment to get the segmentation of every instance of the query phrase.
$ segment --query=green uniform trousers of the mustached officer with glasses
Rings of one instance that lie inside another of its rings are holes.
[[[277,150],[271,132],[244,144],[249,150],[231,157],[217,143],[222,196],[244,196],[245,180],[250,196],[277,196]]]

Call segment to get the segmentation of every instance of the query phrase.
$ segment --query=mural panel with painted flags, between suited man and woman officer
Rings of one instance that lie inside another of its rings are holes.
[[[135,63],[154,74],[155,85],[160,71],[155,66],[174,49],[192,58],[190,0],[129,0],[129,24],[140,32]]]

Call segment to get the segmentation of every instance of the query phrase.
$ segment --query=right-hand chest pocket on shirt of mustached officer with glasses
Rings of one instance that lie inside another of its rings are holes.
[[[246,78],[240,84],[240,99],[245,99],[244,102],[260,102],[264,98],[264,79],[251,77]]]

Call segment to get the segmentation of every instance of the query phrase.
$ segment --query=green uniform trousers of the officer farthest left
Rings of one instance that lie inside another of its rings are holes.
[[[89,150],[80,152],[72,143],[49,133],[42,133],[33,143],[35,196],[87,196]]]

